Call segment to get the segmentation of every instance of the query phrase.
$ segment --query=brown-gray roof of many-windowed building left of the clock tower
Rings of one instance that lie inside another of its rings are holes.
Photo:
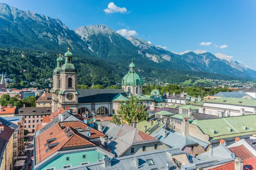
[[[37,115],[37,114],[51,114],[51,107],[25,107],[18,108],[15,115]]]

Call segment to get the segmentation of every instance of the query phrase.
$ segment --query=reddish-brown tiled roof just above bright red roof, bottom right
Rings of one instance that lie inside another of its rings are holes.
[[[229,147],[229,150],[233,152],[236,157],[241,157],[243,160],[254,157],[250,150],[248,150],[243,144],[240,146]]]

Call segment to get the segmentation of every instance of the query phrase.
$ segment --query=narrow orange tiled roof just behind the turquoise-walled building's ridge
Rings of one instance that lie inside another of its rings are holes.
[[[60,122],[60,125],[63,125],[64,127],[72,127],[72,128],[82,128],[83,130],[86,130],[87,127],[89,127],[88,125],[80,122],[80,121],[75,121],[75,122]],[[105,136],[103,133],[101,133],[98,130],[95,129],[91,129],[90,134],[92,138],[98,138],[100,136]]]

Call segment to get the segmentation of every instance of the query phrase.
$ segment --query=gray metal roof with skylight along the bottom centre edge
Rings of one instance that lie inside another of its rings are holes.
[[[166,170],[166,163],[169,163],[169,170],[179,170],[175,162],[172,161],[172,156],[184,154],[182,150],[178,148],[172,148],[167,150],[159,150],[154,152],[142,153],[135,156],[124,156],[111,160],[111,166],[104,168],[102,161],[81,165],[77,167],[66,168],[65,170],[138,170],[136,167],[136,158],[139,159],[139,170],[151,170],[157,168],[157,170]],[[148,159],[152,159],[154,165],[149,166]]]

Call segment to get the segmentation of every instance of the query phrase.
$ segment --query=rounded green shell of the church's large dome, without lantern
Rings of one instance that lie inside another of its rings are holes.
[[[142,86],[143,82],[141,77],[136,73],[128,73],[125,75],[125,77],[122,79],[122,85],[139,85]]]

